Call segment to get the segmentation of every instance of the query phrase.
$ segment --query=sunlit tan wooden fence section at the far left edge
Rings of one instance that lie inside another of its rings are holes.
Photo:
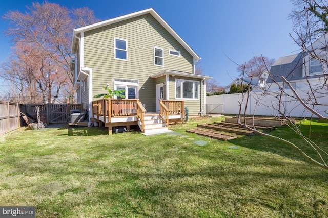
[[[19,127],[18,104],[0,101],[0,135],[18,129]]]

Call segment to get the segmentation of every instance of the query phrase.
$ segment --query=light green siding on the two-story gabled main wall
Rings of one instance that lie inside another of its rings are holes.
[[[127,61],[114,59],[114,37],[127,41]],[[150,75],[165,69],[193,71],[193,57],[150,14],[138,16],[84,33],[84,66],[92,68],[93,93],[103,93],[113,78],[139,81],[139,99],[148,112],[156,110],[156,83]],[[154,46],[164,49],[164,66],[154,66]],[[169,50],[181,57],[169,55]],[[144,86],[145,89],[141,89]]]

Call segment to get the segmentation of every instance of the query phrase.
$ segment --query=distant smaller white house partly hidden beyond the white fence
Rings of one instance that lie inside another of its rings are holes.
[[[263,74],[259,77],[244,77],[244,78],[236,78],[232,81],[226,88],[224,89],[227,93],[230,91],[230,87],[232,84],[240,85],[242,84],[251,84],[252,90],[254,89],[263,89],[267,84],[267,79],[269,77],[269,72],[263,72]]]

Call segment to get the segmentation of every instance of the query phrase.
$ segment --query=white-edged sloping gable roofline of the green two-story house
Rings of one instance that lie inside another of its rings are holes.
[[[112,19],[93,23],[91,25],[87,25],[84,27],[76,28],[73,30],[73,35],[79,35],[81,32],[86,32],[99,27],[104,27],[107,25],[111,25],[112,23],[117,23],[123,20],[127,20],[148,13],[151,14],[162,25],[162,27],[165,28],[194,57],[195,60],[201,59],[199,55],[197,55],[197,53],[170,27],[170,25],[168,25],[168,23],[163,18],[161,18],[161,16],[159,16],[159,14],[153,8],[137,11],[131,14],[126,14]],[[75,37],[73,37],[72,49],[71,49],[72,54],[75,54],[77,52],[77,47],[78,47],[78,40]]]

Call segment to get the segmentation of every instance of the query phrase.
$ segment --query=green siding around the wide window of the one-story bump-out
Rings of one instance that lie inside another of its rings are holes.
[[[198,113],[201,110],[201,97],[203,98],[203,96],[201,96],[201,80],[199,79],[194,79],[194,78],[188,78],[188,77],[179,77],[179,76],[175,76],[172,77],[170,75],[169,77],[169,92],[170,92],[170,100],[179,100],[175,98],[175,79],[182,79],[182,80],[192,80],[192,81],[199,81],[199,93],[198,93],[198,99],[193,99],[193,100],[186,100],[185,101],[185,107],[188,107],[189,110],[189,115],[194,116],[194,115],[198,115]]]

